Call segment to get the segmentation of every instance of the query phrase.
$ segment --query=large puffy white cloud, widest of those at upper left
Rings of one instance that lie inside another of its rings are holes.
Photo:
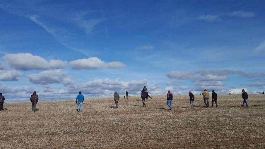
[[[51,60],[48,62],[42,57],[30,53],[6,54],[3,58],[17,70],[61,69],[67,66],[67,61]]]

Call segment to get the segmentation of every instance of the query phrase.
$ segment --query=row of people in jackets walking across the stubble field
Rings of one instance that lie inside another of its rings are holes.
[[[128,91],[126,91],[126,99],[128,99]],[[210,93],[207,91],[207,89],[204,90],[204,92],[202,93],[202,98],[204,100],[204,104],[206,107],[209,107],[209,96]],[[115,108],[118,108],[118,102],[120,100],[120,95],[117,92],[114,92],[114,103],[115,103]],[[146,86],[144,86],[144,88],[141,91],[141,98],[142,98],[142,103],[143,103],[143,107],[146,107],[146,103],[145,100],[147,100],[149,98],[151,98],[147,92],[147,88]],[[192,92],[189,92],[189,101],[190,101],[190,106],[191,108],[195,108],[195,104],[194,104],[194,98],[195,96],[192,94]],[[245,92],[244,89],[242,89],[242,98],[243,98],[243,104],[241,105],[242,107],[245,106],[249,107],[248,105],[248,93]],[[4,110],[4,100],[5,97],[3,96],[2,93],[0,93],[0,111]],[[36,94],[36,91],[33,92],[33,94],[30,96],[30,102],[32,104],[32,112],[36,111],[36,104],[39,101],[39,96]],[[77,104],[77,111],[82,112],[82,104],[84,101],[84,95],[82,94],[82,92],[79,92],[79,94],[76,97],[76,104]],[[215,107],[218,107],[217,104],[217,93],[214,92],[214,90],[212,90],[212,107],[214,107],[214,102],[215,102]],[[173,94],[169,91],[167,91],[167,105],[169,106],[169,110],[173,109]]]

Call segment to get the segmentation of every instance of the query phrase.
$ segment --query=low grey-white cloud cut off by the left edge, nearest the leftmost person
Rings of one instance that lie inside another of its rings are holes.
[[[0,70],[0,74],[1,81],[17,81],[22,76],[17,70]]]

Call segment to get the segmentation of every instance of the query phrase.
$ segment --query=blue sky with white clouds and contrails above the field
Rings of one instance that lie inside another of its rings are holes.
[[[265,1],[0,0],[7,102],[265,90]]]

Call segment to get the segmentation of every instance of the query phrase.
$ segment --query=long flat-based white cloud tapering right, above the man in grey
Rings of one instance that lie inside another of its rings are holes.
[[[114,61],[114,62],[104,62],[101,61],[98,57],[89,57],[84,59],[78,59],[75,61],[70,61],[69,65],[76,70],[79,69],[99,69],[99,68],[122,68],[126,67],[125,64]]]

